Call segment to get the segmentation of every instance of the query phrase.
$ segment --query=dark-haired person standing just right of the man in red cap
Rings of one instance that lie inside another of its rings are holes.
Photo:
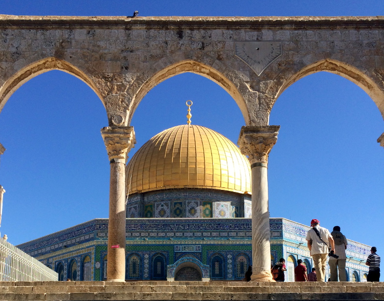
[[[335,242],[335,253],[338,255],[338,259],[332,256],[329,257],[328,264],[331,272],[331,281],[337,281],[337,270],[339,281],[347,281],[347,274],[345,272],[347,239],[343,233],[340,232],[339,226],[333,227],[331,235]]]

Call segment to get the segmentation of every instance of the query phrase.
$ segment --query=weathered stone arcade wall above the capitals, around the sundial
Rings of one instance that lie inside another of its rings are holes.
[[[96,92],[110,126],[130,125],[159,82],[194,72],[238,103],[246,125],[267,125],[276,98],[296,80],[329,71],[364,89],[384,116],[384,17],[0,16],[0,108],[42,72],[71,73]],[[237,42],[279,42],[258,76]]]

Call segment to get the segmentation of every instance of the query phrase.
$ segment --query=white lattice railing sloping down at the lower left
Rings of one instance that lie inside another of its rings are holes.
[[[58,274],[0,238],[0,281],[58,281]]]

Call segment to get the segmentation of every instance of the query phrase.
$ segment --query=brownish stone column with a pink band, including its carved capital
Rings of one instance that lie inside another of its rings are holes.
[[[136,143],[133,126],[101,129],[111,164],[107,280],[125,281],[125,163]]]

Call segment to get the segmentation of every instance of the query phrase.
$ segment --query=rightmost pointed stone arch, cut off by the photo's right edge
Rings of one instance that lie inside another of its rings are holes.
[[[363,72],[348,63],[329,58],[311,63],[296,71],[294,74],[292,74],[292,72],[282,72],[281,74],[285,73],[290,76],[286,78],[283,78],[283,76],[281,78],[276,78],[274,84],[268,89],[268,95],[275,95],[271,107],[276,99],[278,99],[291,84],[307,75],[321,71],[340,75],[358,85],[358,87],[364,90],[372,98],[377,105],[381,116],[384,118],[384,90],[379,87],[378,83],[367,75],[366,72]]]

